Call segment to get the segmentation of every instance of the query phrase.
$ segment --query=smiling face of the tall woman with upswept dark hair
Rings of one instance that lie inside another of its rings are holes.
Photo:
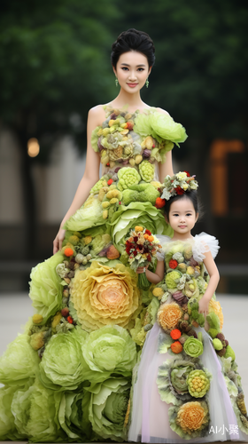
[[[132,94],[143,88],[151,73],[151,67],[148,66],[148,60],[142,52],[128,51],[120,55],[113,72],[118,78],[120,87]]]

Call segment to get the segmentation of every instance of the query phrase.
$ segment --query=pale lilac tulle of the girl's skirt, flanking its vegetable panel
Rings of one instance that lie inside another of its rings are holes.
[[[154,443],[248,441],[248,436],[237,427],[236,415],[221,372],[221,360],[216,355],[211,339],[205,329],[201,328],[196,329],[202,332],[204,340],[204,353],[200,358],[204,367],[213,375],[208,394],[209,433],[205,438],[183,440],[177,433],[173,432],[168,420],[168,408],[171,404],[167,404],[167,402],[160,399],[156,384],[159,366],[167,359],[172,359],[172,356],[168,353],[160,354],[157,352],[159,330],[159,325],[155,323],[143,345],[134,385],[128,440]],[[230,432],[234,429],[235,433]]]

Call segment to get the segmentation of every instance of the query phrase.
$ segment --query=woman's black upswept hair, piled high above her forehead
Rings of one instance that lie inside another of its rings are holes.
[[[155,62],[155,48],[151,37],[135,28],[128,29],[120,34],[112,44],[111,63],[116,68],[120,55],[128,51],[142,52],[148,60],[149,67]]]

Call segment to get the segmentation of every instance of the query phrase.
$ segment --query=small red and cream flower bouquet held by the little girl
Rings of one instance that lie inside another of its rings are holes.
[[[156,236],[143,226],[136,226],[129,233],[125,242],[126,252],[130,268],[136,272],[139,266],[153,266],[156,260],[157,251],[161,251],[161,245]],[[145,271],[145,270],[144,270]],[[145,273],[138,275],[138,287],[148,289],[151,282],[148,281]]]

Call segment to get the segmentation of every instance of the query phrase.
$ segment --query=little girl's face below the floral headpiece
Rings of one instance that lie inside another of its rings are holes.
[[[174,234],[179,235],[182,239],[187,239],[197,220],[198,213],[196,213],[193,202],[188,197],[172,202],[168,222],[174,229]]]

